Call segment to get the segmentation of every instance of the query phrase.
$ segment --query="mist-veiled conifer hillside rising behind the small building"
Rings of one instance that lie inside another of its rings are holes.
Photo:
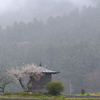
[[[2,69],[40,62],[61,72],[66,93],[100,92],[100,5],[0,27]]]

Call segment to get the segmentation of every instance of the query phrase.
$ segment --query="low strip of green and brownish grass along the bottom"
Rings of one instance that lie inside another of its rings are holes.
[[[80,95],[80,94],[79,94]],[[77,96],[77,95],[76,95]],[[80,95],[81,96],[81,95]],[[83,95],[82,95],[83,96]],[[49,100],[57,100],[57,99],[60,99],[60,100],[100,100],[100,98],[86,98],[86,94],[80,98],[68,98],[67,95],[59,95],[59,96],[52,96],[50,94],[47,94],[47,93],[36,93],[36,92],[33,92],[33,93],[30,93],[30,92],[16,92],[16,93],[4,93],[3,95],[0,95],[0,99],[49,99]],[[97,93],[97,94],[91,94],[91,96],[100,96],[100,93]]]

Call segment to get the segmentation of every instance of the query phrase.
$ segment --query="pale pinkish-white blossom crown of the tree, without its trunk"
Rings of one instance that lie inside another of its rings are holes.
[[[42,73],[43,67],[37,67],[35,64],[27,64],[21,67],[13,67],[10,70],[7,70],[8,73],[12,76],[15,76],[18,80],[23,78],[25,75],[33,76],[34,79],[37,81],[43,76]]]

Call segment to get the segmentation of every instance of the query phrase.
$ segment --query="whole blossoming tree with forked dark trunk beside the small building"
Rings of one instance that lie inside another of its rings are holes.
[[[10,74],[10,76],[13,76],[14,79],[17,79],[24,91],[29,91],[29,84],[32,82],[32,79],[34,78],[36,81],[40,80],[40,77],[43,76],[42,73],[43,67],[38,67],[35,64],[27,64],[22,67],[16,67],[11,68],[10,70],[7,70]],[[23,81],[26,77],[30,77],[30,80],[27,82],[26,86],[23,84]]]

